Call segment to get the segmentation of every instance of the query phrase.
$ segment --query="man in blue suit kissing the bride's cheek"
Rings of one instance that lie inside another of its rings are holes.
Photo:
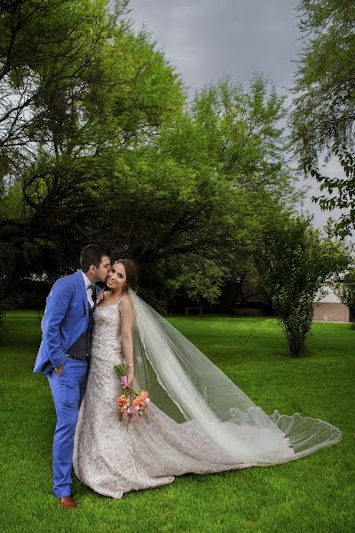
[[[106,282],[110,268],[108,252],[99,246],[86,246],[80,255],[80,267],[75,274],[59,278],[51,289],[34,369],[48,377],[57,413],[53,494],[65,509],[77,508],[71,496],[75,426],[88,376],[95,283]]]

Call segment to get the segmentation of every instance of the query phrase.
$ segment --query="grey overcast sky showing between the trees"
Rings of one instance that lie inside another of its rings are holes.
[[[286,92],[293,84],[300,32],[298,0],[130,0],[134,28],[152,33],[176,68],[190,94],[203,85],[231,76],[248,85],[254,73],[263,73]],[[329,163],[328,173],[339,174]],[[310,197],[304,208],[314,213],[314,223],[325,224],[330,213],[319,210]],[[331,214],[336,217],[335,212]]]

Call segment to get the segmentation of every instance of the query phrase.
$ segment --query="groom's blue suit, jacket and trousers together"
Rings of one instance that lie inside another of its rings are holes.
[[[95,298],[94,298],[95,299]],[[34,372],[47,375],[57,413],[53,437],[53,493],[71,494],[75,426],[88,376],[88,360],[68,359],[67,351],[89,327],[89,302],[80,270],[54,283],[47,298],[42,343]],[[54,368],[64,364],[60,375]]]

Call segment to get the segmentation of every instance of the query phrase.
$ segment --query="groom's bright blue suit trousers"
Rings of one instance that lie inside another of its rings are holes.
[[[48,375],[57,413],[53,437],[53,494],[71,494],[75,426],[88,380],[88,361],[67,359],[61,374]]]

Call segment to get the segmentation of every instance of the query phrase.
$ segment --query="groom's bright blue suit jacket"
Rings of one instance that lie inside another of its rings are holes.
[[[94,305],[96,305],[94,297]],[[89,325],[89,302],[83,274],[66,275],[57,280],[47,297],[34,372],[48,374],[67,362],[67,349],[83,335]]]

